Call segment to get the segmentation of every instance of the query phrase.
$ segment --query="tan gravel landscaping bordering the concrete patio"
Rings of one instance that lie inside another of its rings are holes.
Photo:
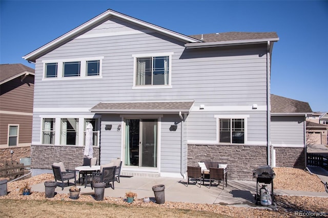
[[[316,191],[324,192],[324,184],[316,175],[311,175],[302,169],[276,167],[274,168],[276,177],[274,179],[275,189],[286,190],[303,190],[303,191]],[[2,199],[15,199],[15,200],[45,200],[44,192],[33,192],[30,196],[19,195],[18,189],[26,182],[30,185],[43,183],[47,180],[53,180],[52,174],[42,174],[31,177],[26,180],[20,180],[8,183],[8,195],[0,197]],[[126,206],[140,206],[140,207],[165,207],[175,209],[188,209],[197,211],[209,211],[217,214],[232,216],[232,217],[296,217],[301,214],[308,216],[316,215],[317,213],[328,216],[328,198],[318,197],[296,197],[296,196],[276,196],[277,207],[269,209],[258,209],[250,207],[235,207],[235,206],[222,206],[213,204],[192,204],[192,203],[178,203],[166,202],[165,204],[156,204],[153,202],[144,203],[142,199],[136,199],[132,204],[128,204],[124,198],[105,197],[104,204],[117,204]],[[69,198],[69,194],[57,194],[49,201],[85,201],[95,202],[90,195],[80,195],[78,200]]]

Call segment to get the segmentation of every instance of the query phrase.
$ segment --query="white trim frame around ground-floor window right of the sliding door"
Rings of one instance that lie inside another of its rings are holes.
[[[247,144],[248,143],[248,125],[249,114],[215,114],[216,118],[216,142],[218,144],[227,144],[228,142],[220,142],[220,119],[244,119],[244,143],[228,143],[228,144]]]

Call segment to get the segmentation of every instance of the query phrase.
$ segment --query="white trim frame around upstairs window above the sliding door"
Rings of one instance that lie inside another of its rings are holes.
[[[133,86],[132,89],[156,89],[156,88],[172,88],[172,55],[173,52],[168,53],[149,53],[149,54],[136,54],[133,57]],[[137,73],[137,58],[149,58],[149,57],[160,57],[169,56],[169,85],[145,85],[136,86],[136,73]]]

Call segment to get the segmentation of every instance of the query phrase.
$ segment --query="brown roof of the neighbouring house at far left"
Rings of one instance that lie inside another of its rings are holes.
[[[26,71],[32,72],[34,75],[34,69],[24,64],[0,64],[0,82],[10,78],[14,79]]]

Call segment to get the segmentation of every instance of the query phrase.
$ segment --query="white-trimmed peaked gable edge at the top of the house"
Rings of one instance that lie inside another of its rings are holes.
[[[54,39],[53,41],[43,45],[42,47],[39,47],[38,49],[34,50],[33,52],[25,55],[23,58],[28,61],[35,62],[35,60],[48,52],[52,51],[56,47],[65,44],[66,42],[70,41],[71,39],[80,36],[81,34],[84,34],[86,31],[89,31],[93,27],[99,25],[100,23],[105,22],[108,20],[110,17],[115,17],[127,22],[131,22],[134,25],[140,26],[145,29],[150,29],[152,31],[161,33],[163,35],[167,35],[173,38],[176,38],[181,41],[185,42],[201,42],[201,40],[153,25],[151,23],[130,17],[125,14],[118,13],[113,10],[107,10],[104,13],[92,18],[91,20],[83,23],[82,25],[78,26],[77,28],[69,31],[68,33],[59,36],[58,38]]]

